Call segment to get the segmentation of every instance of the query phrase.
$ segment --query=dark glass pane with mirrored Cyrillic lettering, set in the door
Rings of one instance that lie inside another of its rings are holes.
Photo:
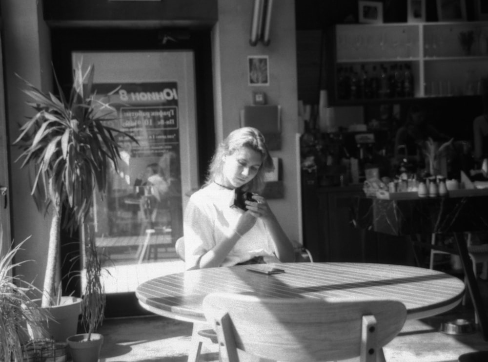
[[[108,175],[106,200],[97,203],[97,234],[144,235],[153,230],[174,243],[183,234],[177,83],[94,87],[117,111],[109,121],[112,126],[138,141],[116,136],[121,161],[117,172]]]

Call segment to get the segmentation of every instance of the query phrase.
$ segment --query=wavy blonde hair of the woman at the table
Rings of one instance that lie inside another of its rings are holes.
[[[222,176],[225,156],[233,154],[238,149],[247,147],[262,156],[261,166],[254,178],[243,186],[244,191],[261,192],[264,188],[264,173],[274,169],[273,160],[269,155],[263,134],[256,128],[243,127],[230,132],[230,134],[217,147],[210,166],[205,185],[208,185]]]

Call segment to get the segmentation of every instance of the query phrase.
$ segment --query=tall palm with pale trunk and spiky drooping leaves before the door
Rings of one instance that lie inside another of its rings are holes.
[[[40,210],[52,211],[42,290],[41,305],[44,308],[52,308],[57,300],[55,275],[60,249],[61,209],[67,210],[66,228],[69,231],[82,225],[92,208],[95,191],[105,192],[108,170],[111,166],[118,169],[120,149],[115,134],[122,133],[137,142],[131,135],[107,124],[114,119],[115,108],[97,99],[92,92],[93,74],[93,66],[83,71],[82,64],[78,64],[69,98],[63,95],[56,74],[59,96],[44,93],[23,80],[26,84],[24,92],[31,99],[28,105],[35,114],[21,126],[14,143],[22,149],[18,158],[22,160],[21,168],[34,166],[32,195],[36,205]],[[96,253],[96,248],[93,251]],[[86,267],[89,269],[94,265],[96,263],[87,263]],[[89,278],[100,277],[100,270],[87,270],[86,275],[89,286]],[[90,298],[90,293],[91,290],[86,289],[84,298]],[[76,333],[79,307],[77,312],[75,332],[70,329],[68,336]]]

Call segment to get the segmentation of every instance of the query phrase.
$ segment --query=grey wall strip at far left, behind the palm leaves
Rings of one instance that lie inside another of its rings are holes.
[[[35,279],[42,286],[49,237],[50,216],[37,211],[30,196],[29,172],[20,170],[20,162],[14,160],[20,154],[11,143],[19,135],[18,124],[32,114],[21,92],[22,83],[16,74],[42,89],[51,89],[51,64],[49,30],[42,20],[41,5],[37,1],[1,0],[2,37],[4,54],[4,81],[9,133],[9,167],[12,238],[20,242],[32,235],[19,253],[19,260],[35,260],[17,271],[25,280]]]

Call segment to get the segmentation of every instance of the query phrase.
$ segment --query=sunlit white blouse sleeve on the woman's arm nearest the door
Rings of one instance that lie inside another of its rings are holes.
[[[205,203],[193,194],[184,213],[185,269],[196,269],[200,258],[215,246],[213,221]]]

